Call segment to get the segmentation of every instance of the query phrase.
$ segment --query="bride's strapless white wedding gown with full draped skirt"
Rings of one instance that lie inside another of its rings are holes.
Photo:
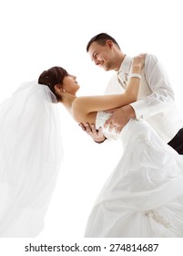
[[[97,128],[109,117],[97,113]],[[86,224],[86,238],[183,237],[183,156],[146,123],[130,120],[119,138],[123,155],[102,188]]]

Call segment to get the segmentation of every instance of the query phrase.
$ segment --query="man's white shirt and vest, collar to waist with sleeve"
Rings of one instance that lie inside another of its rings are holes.
[[[128,56],[125,57],[118,71],[118,78],[115,72],[109,80],[106,94],[125,91],[118,79],[131,74],[132,60]],[[156,56],[147,54],[137,101],[130,105],[136,112],[137,120],[146,120],[166,143],[183,127],[183,120],[178,112],[174,96],[165,69]]]

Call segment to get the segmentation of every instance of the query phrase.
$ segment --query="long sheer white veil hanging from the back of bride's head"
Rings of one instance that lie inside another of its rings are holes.
[[[0,105],[0,237],[36,237],[63,159],[56,97],[37,81]]]

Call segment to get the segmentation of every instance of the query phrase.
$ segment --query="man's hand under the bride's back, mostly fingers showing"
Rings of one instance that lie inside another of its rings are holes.
[[[99,128],[97,130],[95,124],[92,123],[91,125],[89,125],[89,123],[86,123],[86,124],[79,123],[79,126],[83,129],[83,131],[85,131],[88,135],[90,135],[90,137],[92,137],[92,139],[96,143],[101,144],[106,140],[106,137],[102,133],[102,129]]]

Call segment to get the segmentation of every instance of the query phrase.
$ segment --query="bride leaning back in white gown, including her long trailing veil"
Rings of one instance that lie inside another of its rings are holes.
[[[123,94],[76,97],[79,85],[53,67],[23,85],[0,109],[0,236],[36,237],[44,227],[63,155],[56,104],[77,123],[96,123],[124,153],[101,189],[85,237],[182,237],[183,159],[146,122],[132,119],[121,133],[104,128],[114,109],[137,100],[144,55],[134,59]]]

